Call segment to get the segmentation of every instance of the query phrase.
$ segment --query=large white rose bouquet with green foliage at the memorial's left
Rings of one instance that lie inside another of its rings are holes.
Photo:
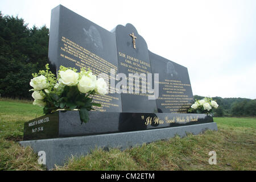
[[[43,106],[44,114],[61,110],[79,110],[81,122],[89,121],[89,110],[94,110],[93,106],[100,107],[100,104],[93,103],[93,94],[105,95],[108,93],[108,85],[103,78],[98,78],[89,70],[81,68],[77,73],[75,68],[60,66],[58,78],[46,70],[32,74],[34,77],[30,81],[31,89],[34,91],[34,105]],[[31,91],[30,90],[30,91]]]

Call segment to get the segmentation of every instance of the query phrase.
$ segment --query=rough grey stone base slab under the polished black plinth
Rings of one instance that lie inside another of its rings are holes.
[[[217,130],[214,122],[199,125],[171,127],[156,130],[131,131],[125,133],[89,135],[83,137],[68,137],[55,139],[30,140],[19,142],[22,146],[31,146],[33,150],[46,152],[46,167],[52,169],[63,165],[73,156],[89,154],[96,146],[101,148],[117,147],[121,150],[138,146],[147,142],[168,139],[179,135],[185,137],[188,133],[200,134],[205,130]]]

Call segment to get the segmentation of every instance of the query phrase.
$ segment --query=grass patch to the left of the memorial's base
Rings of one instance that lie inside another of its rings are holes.
[[[43,115],[31,101],[0,99],[0,170],[43,170],[30,147],[20,147],[24,122]]]

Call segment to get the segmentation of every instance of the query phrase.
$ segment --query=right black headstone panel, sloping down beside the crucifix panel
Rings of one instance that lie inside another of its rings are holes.
[[[187,113],[193,101],[188,69],[148,51],[152,73],[159,73],[159,113]]]

